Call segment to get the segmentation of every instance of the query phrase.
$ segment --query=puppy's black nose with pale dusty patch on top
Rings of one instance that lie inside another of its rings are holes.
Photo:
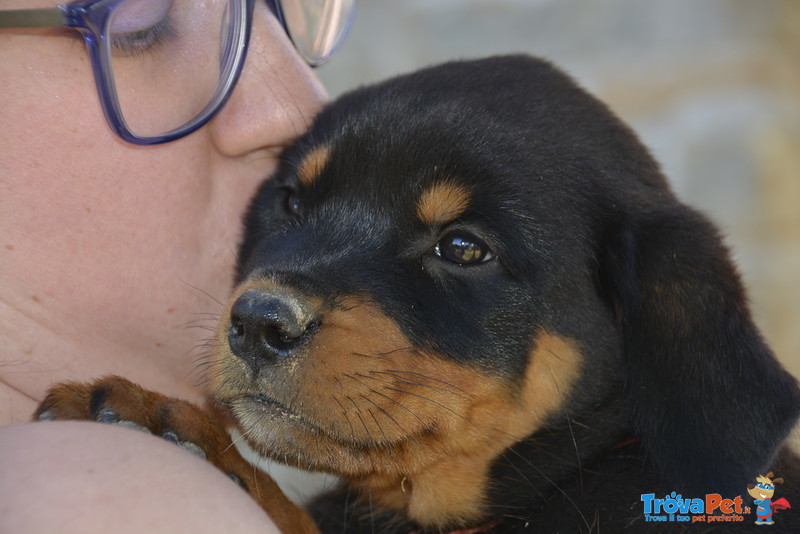
[[[236,299],[230,321],[231,351],[254,369],[291,356],[318,324],[308,306],[294,296],[257,289]]]

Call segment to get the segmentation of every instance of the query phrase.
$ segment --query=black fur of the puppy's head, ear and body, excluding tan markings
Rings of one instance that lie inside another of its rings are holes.
[[[320,147],[324,157],[309,170],[304,162]],[[420,199],[443,183],[466,192],[449,206],[457,216],[421,216]],[[455,62],[345,95],[286,151],[246,226],[242,284],[269,279],[325,309],[342,296],[367,298],[414,350],[510,390],[523,389],[542,332],[580,356],[564,363],[577,366],[577,378],[558,391],[557,409],[474,481],[484,498],[473,523],[446,510],[442,521],[420,523],[346,476],[312,506],[323,531],[747,531],[752,514],[733,526],[646,524],[640,496],[743,495],[752,507],[746,485],[766,471],[786,480],[776,498],[800,505],[797,460],[782,449],[800,394],[754,326],[717,229],[675,197],[628,127],[550,64]],[[483,256],[475,260],[470,246]],[[322,308],[304,326],[310,340],[302,350],[279,347],[282,358],[313,357]],[[252,363],[262,350],[233,350],[250,358],[242,373],[285,380]],[[340,381],[344,397],[348,384]],[[260,387],[313,419],[309,401]],[[437,404],[428,409],[448,409]],[[347,411],[350,424],[358,414]],[[370,413],[376,425],[365,429],[391,426]],[[365,458],[397,443],[346,430],[335,439]],[[335,462],[281,456],[338,471]],[[776,523],[798,529],[800,515],[781,512]]]

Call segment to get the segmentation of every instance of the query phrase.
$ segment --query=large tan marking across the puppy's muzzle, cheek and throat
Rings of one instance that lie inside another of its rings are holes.
[[[358,297],[324,310],[306,354],[255,384],[236,378],[226,353],[212,358],[220,396],[264,393],[295,412],[267,418],[232,403],[258,450],[348,478],[428,528],[485,520],[492,463],[561,408],[581,364],[568,340],[542,333],[512,385],[414,349]]]

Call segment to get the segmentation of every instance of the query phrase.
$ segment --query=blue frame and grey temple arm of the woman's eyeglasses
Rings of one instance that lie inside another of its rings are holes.
[[[240,0],[239,4],[244,7],[244,24],[238,28],[237,49],[233,52],[235,57],[231,62],[230,72],[221,73],[220,89],[214,94],[213,99],[200,111],[192,120],[174,130],[161,135],[140,136],[133,133],[127,126],[123,118],[122,110],[117,99],[114,86],[114,74],[112,72],[110,58],[107,57],[108,48],[105,43],[107,35],[107,20],[112,15],[114,9],[126,0],[76,0],[69,4],[59,5],[53,8],[41,9],[20,9],[20,10],[0,10],[0,28],[46,28],[46,27],[65,27],[74,29],[81,33],[86,46],[89,50],[89,57],[92,63],[95,86],[100,98],[100,105],[111,130],[121,139],[134,145],[157,145],[175,141],[186,137],[195,132],[217,112],[222,109],[233,93],[236,82],[244,67],[247,57],[247,49],[250,43],[250,30],[253,25],[253,9],[255,0]],[[283,17],[278,0],[265,0],[273,16],[280,22],[286,35],[291,40],[291,33]],[[241,18],[239,19],[241,20]],[[349,29],[352,17],[347,21],[344,32]],[[333,49],[330,55],[336,49]],[[309,62],[312,67],[319,66],[320,62]]]

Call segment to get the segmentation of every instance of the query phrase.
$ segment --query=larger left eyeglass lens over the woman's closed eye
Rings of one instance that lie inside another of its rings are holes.
[[[126,0],[106,26],[107,57],[128,128],[179,128],[218,101],[234,63],[237,0]]]

